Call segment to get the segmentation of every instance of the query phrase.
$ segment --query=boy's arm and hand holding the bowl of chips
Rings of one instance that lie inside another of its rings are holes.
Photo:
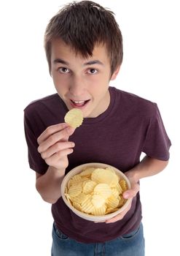
[[[125,173],[125,175],[130,180],[131,189],[124,192],[123,197],[126,199],[132,198],[133,200],[133,197],[135,197],[139,191],[138,181],[141,178],[153,176],[157,173],[160,173],[160,171],[164,170],[167,165],[168,161],[161,161],[159,159],[154,159],[148,156],[144,157],[144,159],[142,159],[142,161],[138,165]],[[131,203],[128,208],[125,209],[125,211],[122,211],[121,214],[118,214],[112,219],[106,220],[106,223],[117,222],[117,220],[125,217],[125,214],[127,214],[127,212],[130,210],[130,206]]]

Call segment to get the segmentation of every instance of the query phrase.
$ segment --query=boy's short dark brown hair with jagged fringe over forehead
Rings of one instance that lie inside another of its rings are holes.
[[[93,56],[95,45],[106,45],[111,74],[122,64],[122,34],[114,12],[93,1],[73,1],[51,18],[44,34],[50,72],[52,39],[62,39],[84,58]]]

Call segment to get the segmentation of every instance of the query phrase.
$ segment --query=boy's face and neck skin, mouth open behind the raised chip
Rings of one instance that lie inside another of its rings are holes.
[[[79,108],[84,117],[94,118],[109,106],[109,80],[111,76],[109,57],[104,45],[93,50],[93,56],[83,59],[62,40],[52,41],[51,75],[55,89],[67,108]]]

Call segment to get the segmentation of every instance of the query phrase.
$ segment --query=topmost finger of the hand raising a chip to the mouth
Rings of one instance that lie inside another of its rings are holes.
[[[44,132],[42,132],[42,134],[39,136],[39,138],[37,139],[37,142],[39,144],[42,143],[44,140],[50,137],[50,135],[54,134],[55,132],[59,132],[61,129],[65,129],[68,126],[69,125],[66,123],[60,123],[60,124],[54,124],[50,127],[47,127],[47,129],[45,129]]]

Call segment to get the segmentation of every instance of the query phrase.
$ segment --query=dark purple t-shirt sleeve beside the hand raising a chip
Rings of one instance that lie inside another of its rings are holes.
[[[44,174],[47,171],[48,165],[44,162],[41,155],[37,151],[38,143],[36,132],[32,128],[32,124],[28,118],[28,115],[24,115],[24,129],[26,136],[26,143],[28,146],[28,162],[32,170],[35,170],[37,173]]]

